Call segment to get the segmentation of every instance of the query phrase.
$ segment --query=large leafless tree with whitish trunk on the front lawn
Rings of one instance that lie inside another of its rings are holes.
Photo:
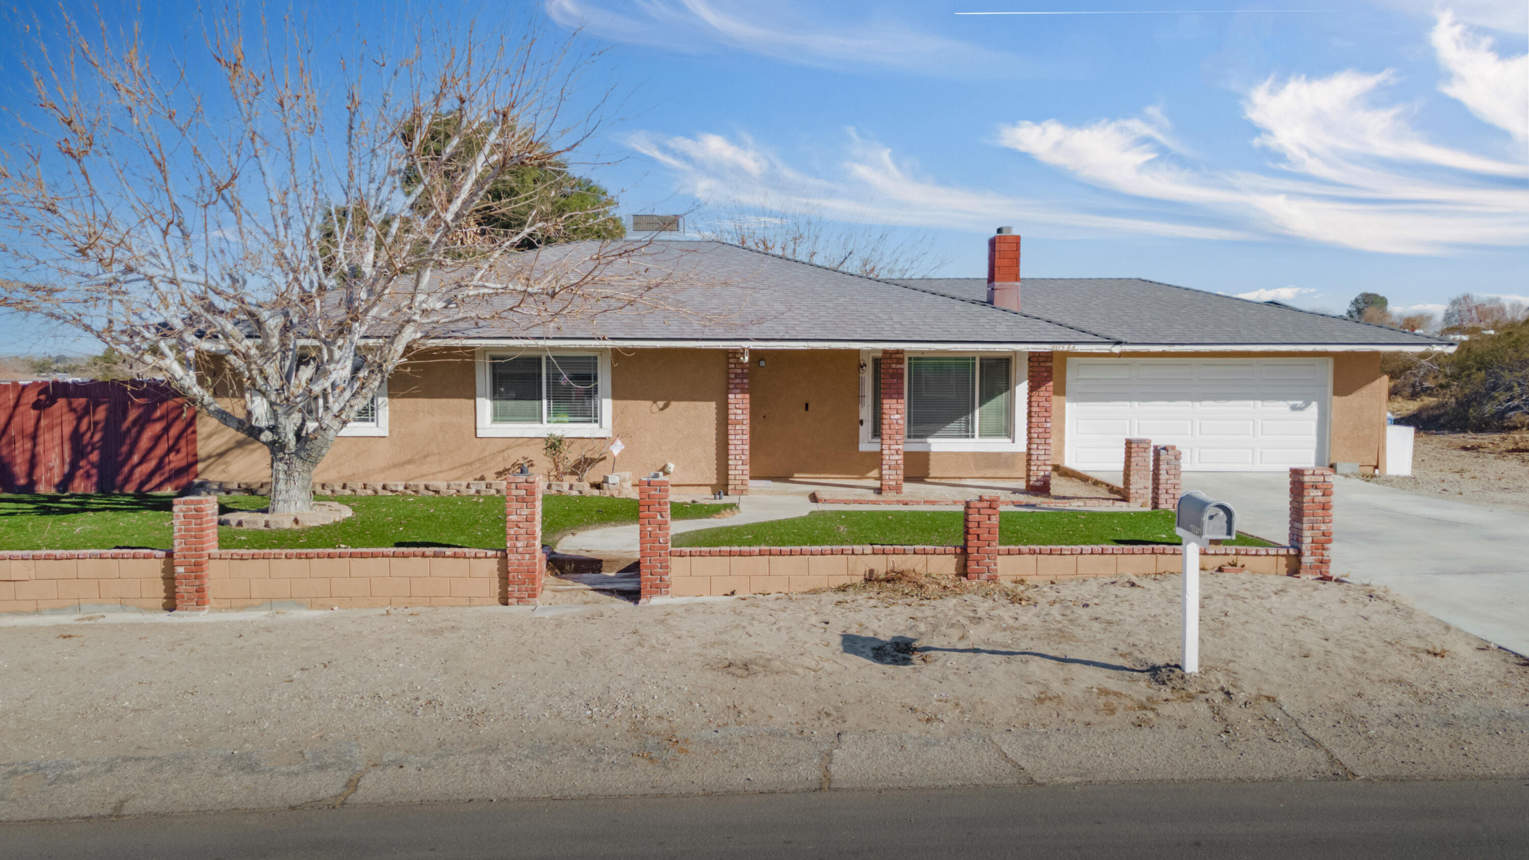
[[[653,306],[664,283],[616,265],[641,242],[544,252],[609,230],[569,168],[604,104],[576,87],[590,57],[457,9],[396,31],[417,35],[225,11],[205,61],[162,63],[136,31],[63,18],[5,144],[0,254],[21,274],[0,309],[93,335],[266,445],[275,513],[312,508],[336,433],[422,340]]]

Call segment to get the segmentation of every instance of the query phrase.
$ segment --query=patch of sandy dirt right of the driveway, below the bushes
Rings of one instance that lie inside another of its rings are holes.
[[[1411,477],[1378,474],[1364,480],[1488,508],[1529,511],[1529,432],[1419,432],[1413,441]]]

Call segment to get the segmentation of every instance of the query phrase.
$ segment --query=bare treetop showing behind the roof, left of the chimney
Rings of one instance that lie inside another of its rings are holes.
[[[865,277],[925,277],[945,262],[930,236],[829,222],[810,210],[728,210],[703,216],[702,239],[731,242]]]

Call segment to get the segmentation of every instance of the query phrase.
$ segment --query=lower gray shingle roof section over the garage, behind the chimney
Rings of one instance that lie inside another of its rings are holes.
[[[988,295],[988,282],[980,277],[899,279],[898,283],[965,300]],[[1020,308],[1053,323],[1141,346],[1332,344],[1384,349],[1449,343],[1346,317],[1142,279],[1027,277],[1020,283]]]

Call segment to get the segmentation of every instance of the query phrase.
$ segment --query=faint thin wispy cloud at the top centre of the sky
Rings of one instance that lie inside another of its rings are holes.
[[[991,77],[1029,63],[884,18],[835,21],[821,5],[746,0],[547,0],[567,28],[609,41],[685,54],[748,50],[807,66],[882,66],[940,77]]]

